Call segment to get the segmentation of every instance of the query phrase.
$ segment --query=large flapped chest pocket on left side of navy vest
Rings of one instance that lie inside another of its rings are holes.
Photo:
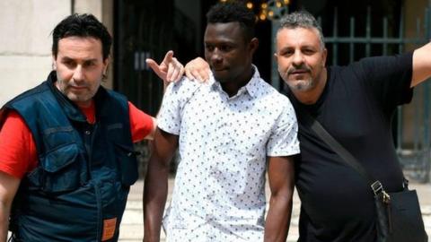
[[[85,180],[86,172],[76,143],[68,143],[48,151],[40,157],[40,165],[29,175],[29,180],[47,193],[75,190]]]

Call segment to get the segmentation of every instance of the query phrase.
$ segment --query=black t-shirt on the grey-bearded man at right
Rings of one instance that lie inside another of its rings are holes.
[[[391,118],[412,97],[412,54],[365,58],[328,69],[328,82],[313,105],[303,108],[380,180],[386,191],[402,188]],[[299,241],[375,241],[374,196],[364,177],[350,168],[317,134],[299,122],[301,155],[295,181],[302,201]]]

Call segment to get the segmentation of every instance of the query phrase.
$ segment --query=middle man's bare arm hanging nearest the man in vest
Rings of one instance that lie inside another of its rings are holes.
[[[145,175],[144,241],[160,241],[160,229],[168,194],[169,162],[178,147],[178,136],[157,128],[153,151]]]

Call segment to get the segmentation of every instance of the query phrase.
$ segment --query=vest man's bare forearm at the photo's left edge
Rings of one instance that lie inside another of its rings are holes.
[[[0,171],[0,241],[4,242],[7,238],[9,226],[9,215],[13,197],[20,186],[19,178],[8,175]]]

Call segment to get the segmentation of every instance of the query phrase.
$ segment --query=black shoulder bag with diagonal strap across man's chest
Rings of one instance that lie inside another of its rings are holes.
[[[355,157],[339,144],[322,126],[308,113],[303,117],[312,130],[337,152],[346,163],[365,177],[374,192],[376,212],[377,242],[427,242],[422,213],[418,203],[418,194],[409,190],[409,182],[404,179],[404,189],[397,193],[386,193],[382,183],[369,175]]]

